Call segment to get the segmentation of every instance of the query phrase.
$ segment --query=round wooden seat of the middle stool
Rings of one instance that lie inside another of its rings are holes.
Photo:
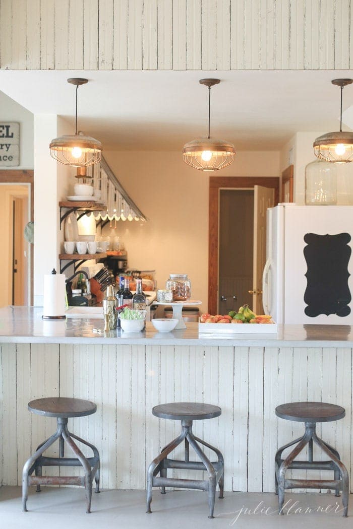
[[[172,402],[152,408],[152,415],[172,421],[203,421],[221,415],[219,406],[200,402]]]

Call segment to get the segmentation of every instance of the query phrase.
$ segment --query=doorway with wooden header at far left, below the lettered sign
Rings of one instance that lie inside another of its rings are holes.
[[[0,171],[0,306],[33,304],[33,245],[24,227],[33,220],[33,171]]]

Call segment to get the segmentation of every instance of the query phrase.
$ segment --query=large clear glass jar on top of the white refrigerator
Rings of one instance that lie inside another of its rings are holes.
[[[305,167],[305,204],[307,206],[337,203],[337,169],[334,163],[315,160]]]

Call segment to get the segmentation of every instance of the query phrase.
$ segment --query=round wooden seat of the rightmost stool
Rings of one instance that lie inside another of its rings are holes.
[[[276,408],[276,415],[287,421],[328,423],[346,415],[345,408],[327,402],[292,402]]]

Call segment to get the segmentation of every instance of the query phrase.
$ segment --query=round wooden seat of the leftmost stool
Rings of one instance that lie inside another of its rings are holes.
[[[95,413],[97,406],[90,400],[80,398],[48,397],[31,400],[28,409],[47,417],[85,417]]]

